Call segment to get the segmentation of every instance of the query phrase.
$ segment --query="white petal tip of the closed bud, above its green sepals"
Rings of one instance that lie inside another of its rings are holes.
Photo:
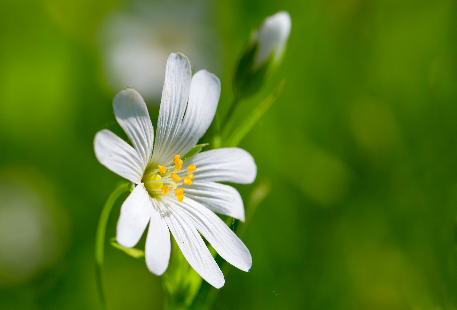
[[[265,18],[251,39],[251,43],[259,44],[255,58],[256,66],[260,66],[270,55],[273,56],[273,64],[281,60],[291,27],[292,21],[286,11],[279,11]]]

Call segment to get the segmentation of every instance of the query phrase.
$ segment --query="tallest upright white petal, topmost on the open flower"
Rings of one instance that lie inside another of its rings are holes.
[[[161,165],[171,161],[166,157],[172,141],[177,139],[191,86],[191,64],[181,53],[171,53],[165,69],[165,82],[160,102],[152,162]]]

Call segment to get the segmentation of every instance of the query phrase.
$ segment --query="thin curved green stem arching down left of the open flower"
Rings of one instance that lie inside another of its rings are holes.
[[[97,234],[95,238],[95,278],[98,291],[98,297],[100,298],[101,308],[103,310],[108,310],[108,305],[106,305],[105,294],[103,293],[103,260],[104,260],[104,246],[105,246],[105,231],[106,223],[108,222],[108,217],[110,216],[111,209],[116,202],[117,198],[121,196],[124,192],[128,192],[129,183],[119,185],[108,197],[106,200],[103,209],[101,210],[100,219],[97,226]]]

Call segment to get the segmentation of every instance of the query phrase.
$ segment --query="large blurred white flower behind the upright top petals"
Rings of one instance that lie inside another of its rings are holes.
[[[197,68],[218,69],[219,40],[205,23],[207,3],[134,1],[130,7],[109,15],[100,31],[102,66],[112,91],[135,87],[148,103],[158,105],[165,60],[177,50],[194,59]]]

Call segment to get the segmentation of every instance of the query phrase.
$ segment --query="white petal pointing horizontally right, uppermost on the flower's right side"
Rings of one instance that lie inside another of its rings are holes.
[[[194,164],[195,181],[232,182],[250,184],[257,175],[254,158],[239,148],[214,149],[198,153],[188,160],[184,166]]]

